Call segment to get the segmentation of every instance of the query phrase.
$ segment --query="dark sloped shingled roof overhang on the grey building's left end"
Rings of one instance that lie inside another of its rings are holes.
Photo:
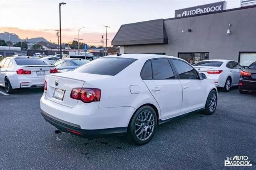
[[[112,40],[112,45],[167,44],[164,20],[124,24]]]

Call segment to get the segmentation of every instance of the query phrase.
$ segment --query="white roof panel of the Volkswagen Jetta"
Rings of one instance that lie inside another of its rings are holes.
[[[122,54],[122,55],[108,55],[105,57],[100,58],[108,58],[108,57],[123,57],[123,58],[131,58],[131,59],[155,59],[155,58],[174,58],[177,59],[177,57],[168,56],[168,55],[157,55],[157,54]]]

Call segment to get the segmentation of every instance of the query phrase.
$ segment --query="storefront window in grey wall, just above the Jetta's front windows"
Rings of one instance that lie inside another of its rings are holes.
[[[190,64],[195,64],[202,60],[208,60],[209,53],[178,53],[178,57]]]

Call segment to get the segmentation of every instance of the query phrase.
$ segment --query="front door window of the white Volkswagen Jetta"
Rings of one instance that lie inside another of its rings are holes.
[[[172,63],[176,67],[180,79],[198,79],[198,73],[189,64],[175,59],[172,59]]]

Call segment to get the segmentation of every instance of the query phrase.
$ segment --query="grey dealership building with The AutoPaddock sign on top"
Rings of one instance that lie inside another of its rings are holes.
[[[191,64],[228,59],[248,66],[256,61],[256,5],[226,10],[222,1],[176,10],[174,18],[124,24],[112,45],[121,54],[171,55]]]

